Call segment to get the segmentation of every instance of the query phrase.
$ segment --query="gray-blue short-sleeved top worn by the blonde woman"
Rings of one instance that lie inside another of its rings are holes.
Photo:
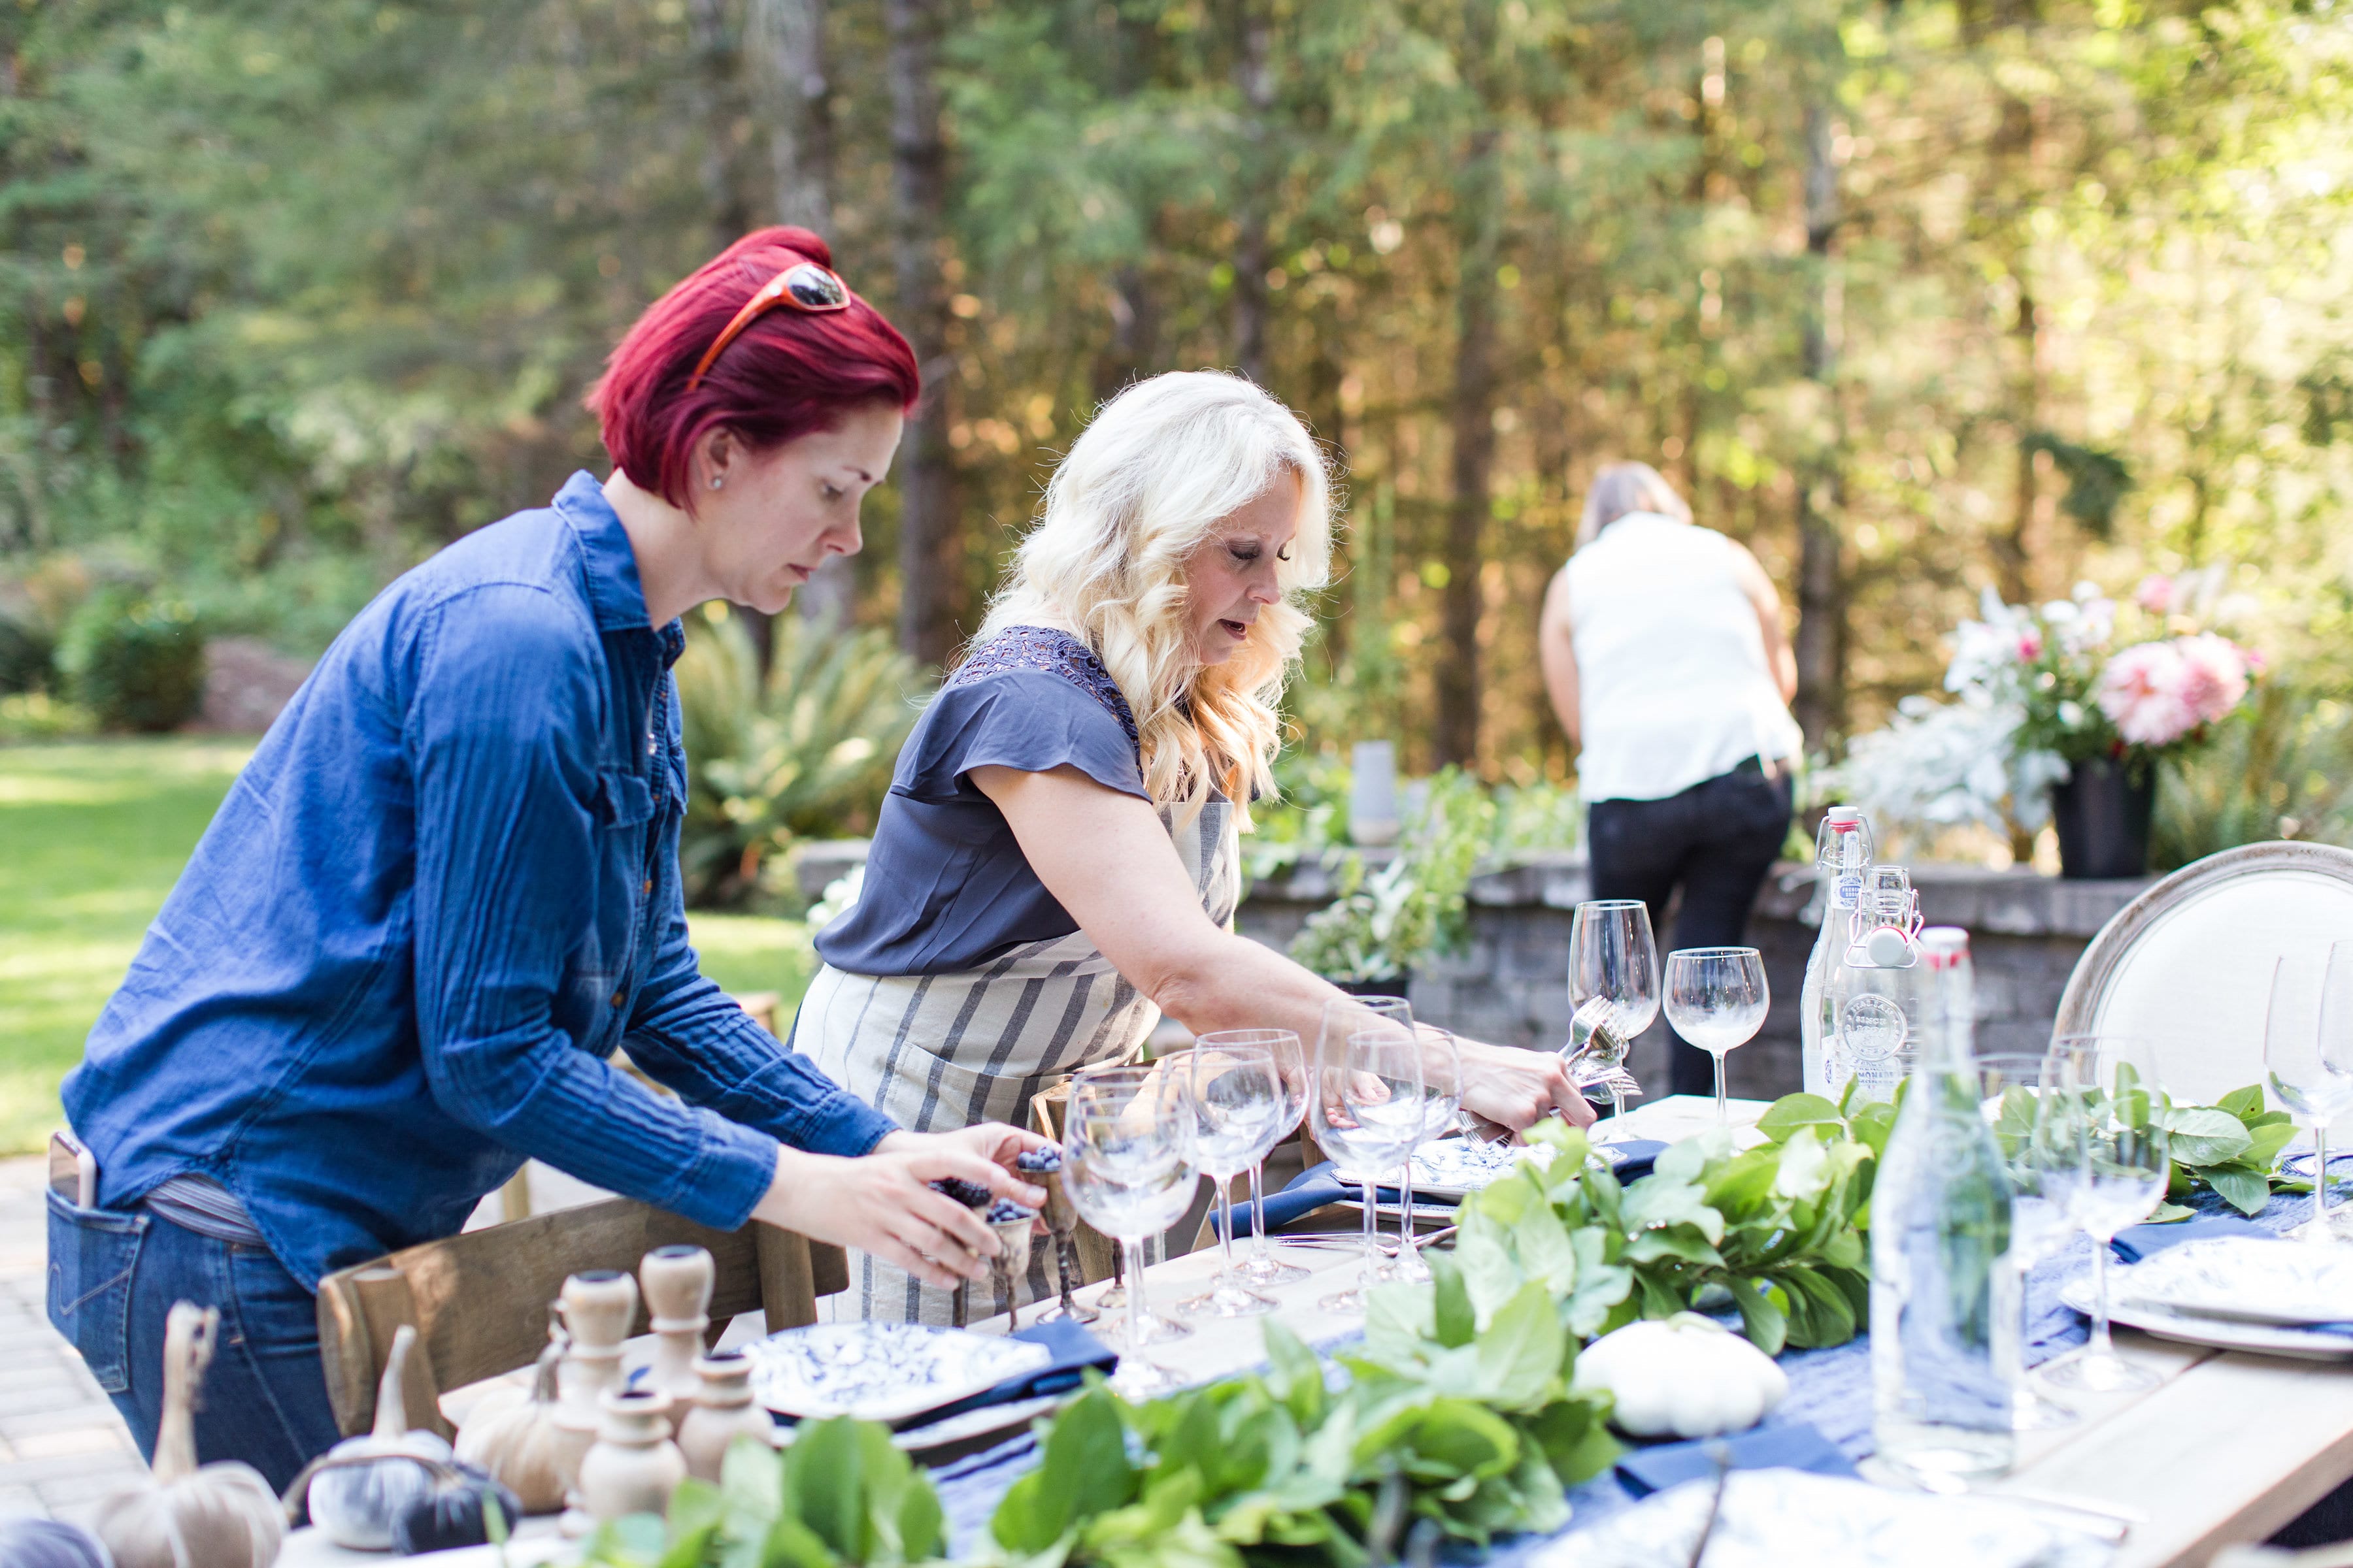
[[[1078,922],[1045,891],[972,769],[1073,766],[1148,802],[1136,717],[1085,642],[1042,625],[991,637],[948,677],[899,752],[859,900],[816,936],[854,976],[962,973]]]

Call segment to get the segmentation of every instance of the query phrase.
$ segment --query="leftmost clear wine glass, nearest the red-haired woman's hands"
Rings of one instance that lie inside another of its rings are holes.
[[[1085,1067],[1071,1079],[1061,1180],[1087,1225],[1120,1244],[1127,1260],[1127,1347],[1111,1387],[1144,1399],[1179,1385],[1144,1359],[1155,1338],[1144,1309],[1144,1241],[1193,1206],[1193,1110],[1184,1074],[1167,1063]],[[1160,1321],[1160,1335],[1167,1331]],[[1179,1333],[1191,1333],[1174,1324]]]

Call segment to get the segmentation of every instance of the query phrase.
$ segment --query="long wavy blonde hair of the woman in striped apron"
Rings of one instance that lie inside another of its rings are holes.
[[[1200,665],[1186,557],[1282,475],[1299,482],[1282,602],[1233,658]],[[1249,799],[1275,795],[1275,703],[1311,625],[1297,599],[1329,569],[1332,475],[1299,416],[1240,376],[1169,371],[1106,402],[1071,444],[974,644],[1068,623],[1136,715],[1153,802],[1191,820],[1217,790],[1247,825]]]

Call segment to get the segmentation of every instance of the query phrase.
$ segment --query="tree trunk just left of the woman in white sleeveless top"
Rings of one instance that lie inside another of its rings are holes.
[[[1487,482],[1494,470],[1494,153],[1497,129],[1482,125],[1464,148],[1457,223],[1461,277],[1454,289],[1454,390],[1447,425],[1454,437],[1454,484],[1447,496],[1445,656],[1438,661],[1438,762],[1478,764],[1480,658],[1485,609],[1480,543],[1487,531]]]

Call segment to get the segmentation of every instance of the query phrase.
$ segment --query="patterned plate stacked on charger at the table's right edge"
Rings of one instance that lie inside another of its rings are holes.
[[[2092,1312],[2092,1281],[2059,1300]],[[2184,1345],[2308,1361],[2353,1359],[2353,1333],[2304,1328],[2353,1316],[2353,1248],[2297,1239],[2207,1237],[2108,1272],[2108,1316]]]

